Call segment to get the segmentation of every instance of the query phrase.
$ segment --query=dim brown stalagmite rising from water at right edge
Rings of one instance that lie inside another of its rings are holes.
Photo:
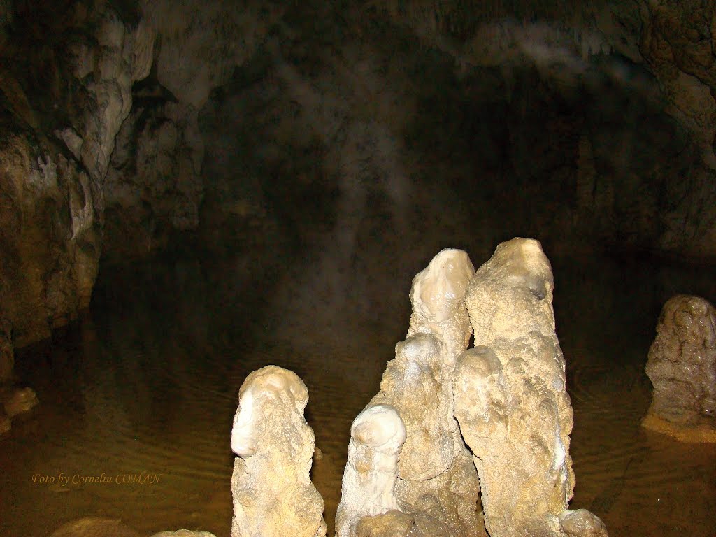
[[[649,349],[652,405],[642,425],[686,442],[716,442],[716,309],[698,296],[674,296],[662,309]]]

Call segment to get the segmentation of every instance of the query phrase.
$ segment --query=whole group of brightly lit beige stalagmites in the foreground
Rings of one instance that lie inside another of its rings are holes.
[[[337,537],[607,536],[568,509],[572,410],[552,290],[540,243],[523,238],[477,272],[445,249],[415,276],[407,339],[351,427]],[[325,534],[307,399],[275,366],[241,387],[232,537]]]

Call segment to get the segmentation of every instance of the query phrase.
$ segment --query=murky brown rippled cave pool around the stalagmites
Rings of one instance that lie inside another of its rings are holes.
[[[639,427],[659,309],[676,293],[714,301],[713,270],[552,261],[574,406],[571,507],[594,511],[612,537],[716,536],[716,446]],[[275,267],[248,276],[247,263],[103,270],[83,319],[17,352],[17,374],[41,404],[0,440],[0,536],[44,537],[73,518],[107,516],[147,536],[190,528],[227,537],[236,395],[266,364],[293,369],[309,388],[322,454],[312,477],[333,525],[349,427],[405,337],[417,270],[357,304],[337,299],[336,282],[307,296]]]

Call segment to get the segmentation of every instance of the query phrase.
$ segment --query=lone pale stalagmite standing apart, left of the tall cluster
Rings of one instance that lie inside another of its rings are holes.
[[[294,372],[269,365],[246,377],[231,430],[231,537],[324,537],[324,502],[311,483],[309,396]]]

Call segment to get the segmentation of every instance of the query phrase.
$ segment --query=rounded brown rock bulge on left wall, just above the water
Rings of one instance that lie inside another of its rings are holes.
[[[27,136],[27,135],[26,135]],[[91,179],[72,157],[6,134],[0,147],[0,315],[16,347],[89,304],[100,257]]]

